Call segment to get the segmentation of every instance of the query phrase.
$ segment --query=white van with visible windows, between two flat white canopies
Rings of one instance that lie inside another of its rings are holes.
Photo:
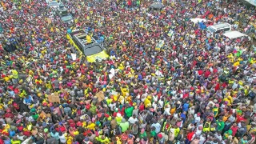
[[[207,31],[209,31],[211,34],[219,34],[221,31],[226,32],[231,30],[232,26],[226,22],[207,27]]]

